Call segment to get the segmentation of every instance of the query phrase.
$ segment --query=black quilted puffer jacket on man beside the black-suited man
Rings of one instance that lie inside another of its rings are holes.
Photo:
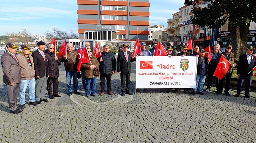
[[[100,58],[102,57],[103,61],[100,62]],[[101,74],[112,74],[112,71],[116,71],[117,66],[117,60],[115,56],[108,52],[105,54],[105,52],[101,53],[101,57],[98,57],[98,61],[100,63],[99,70]]]

